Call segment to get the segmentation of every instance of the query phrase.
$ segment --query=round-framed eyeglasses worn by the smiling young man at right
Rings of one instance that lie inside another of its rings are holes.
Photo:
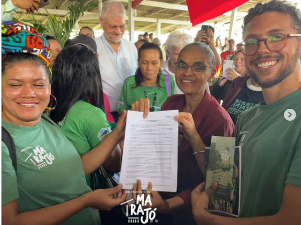
[[[301,34],[271,34],[263,39],[247,39],[242,43],[242,53],[246,56],[253,56],[256,54],[259,43],[264,42],[265,47],[271,52],[281,51],[288,38],[301,37]]]

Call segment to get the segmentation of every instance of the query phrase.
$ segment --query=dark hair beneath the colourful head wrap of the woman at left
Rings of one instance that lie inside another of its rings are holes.
[[[11,67],[13,64],[22,64],[23,61],[31,61],[34,64],[33,65],[37,65],[40,64],[42,67],[44,67],[49,81],[51,82],[51,74],[49,71],[49,68],[46,66],[46,64],[43,62],[43,60],[39,57],[37,57],[36,55],[30,54],[30,53],[8,53],[5,54],[2,57],[2,68],[1,68],[1,72],[2,72],[2,76],[5,74],[5,71]]]

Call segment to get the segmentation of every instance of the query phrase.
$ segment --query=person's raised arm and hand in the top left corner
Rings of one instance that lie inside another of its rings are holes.
[[[40,0],[8,0],[4,5],[1,5],[1,20],[2,22],[11,21],[18,8],[26,10],[29,14],[38,12],[39,4]]]

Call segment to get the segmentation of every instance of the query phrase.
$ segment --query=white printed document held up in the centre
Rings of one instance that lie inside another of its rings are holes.
[[[123,188],[132,189],[137,179],[142,189],[152,182],[153,190],[177,191],[178,110],[149,112],[127,111],[120,172]]]

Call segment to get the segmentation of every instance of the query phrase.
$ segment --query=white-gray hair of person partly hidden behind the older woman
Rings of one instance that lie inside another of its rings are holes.
[[[166,48],[171,51],[171,48],[179,48],[180,51],[188,44],[192,43],[192,37],[180,31],[175,31],[170,34],[166,40]]]

